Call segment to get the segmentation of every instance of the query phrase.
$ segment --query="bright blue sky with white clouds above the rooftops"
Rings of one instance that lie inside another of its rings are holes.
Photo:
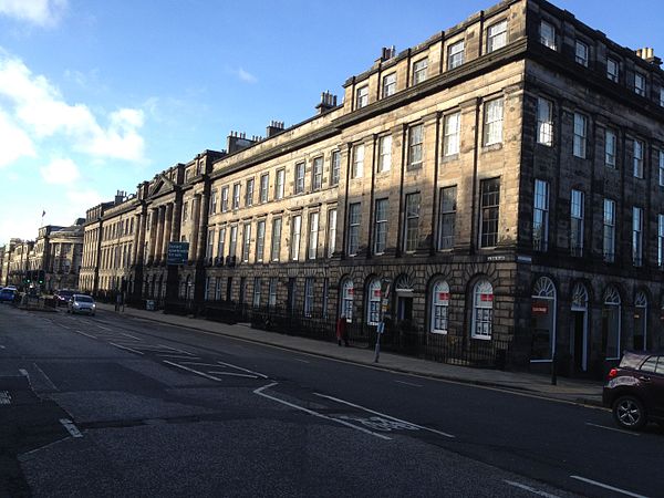
[[[491,0],[0,0],[0,245],[70,225],[232,131],[314,113],[324,90]],[[658,1],[554,4],[664,55]]]

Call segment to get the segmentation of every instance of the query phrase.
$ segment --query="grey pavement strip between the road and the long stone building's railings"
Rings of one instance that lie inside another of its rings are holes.
[[[146,311],[125,308],[114,311],[113,304],[97,303],[97,309],[153,322],[167,323],[188,329],[200,330],[243,341],[268,344],[286,350],[298,351],[317,356],[345,361],[364,366],[393,372],[421,375],[432,378],[459,382],[486,387],[496,387],[569,403],[602,406],[602,385],[600,381],[558,377],[552,385],[550,374],[528,372],[505,372],[490,369],[473,369],[421,360],[394,353],[381,352],[378,363],[374,362],[373,347],[340,347],[335,342],[318,341],[277,332],[251,329],[248,323],[229,325],[205,319],[164,314],[162,311]]]

